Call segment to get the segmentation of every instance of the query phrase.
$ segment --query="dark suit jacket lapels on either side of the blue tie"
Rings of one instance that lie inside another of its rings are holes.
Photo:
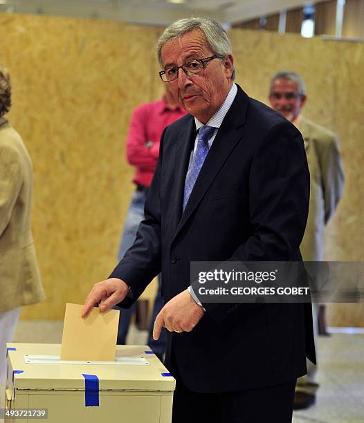
[[[181,220],[179,220],[178,226],[176,227],[176,233],[174,238],[179,233],[183,225],[187,222],[188,218],[191,216],[194,209],[199,205],[201,199],[206,194],[206,191],[210,187],[212,181],[215,179],[215,176],[223,166],[224,162],[233,151],[235,145],[242,138],[242,135],[237,131],[239,126],[242,126],[246,118],[246,109],[248,106],[248,96],[242,89],[238,86],[237,95],[233,104],[231,105],[228,113],[222,122],[219,131],[217,131],[216,138],[212,143],[211,149],[208,152],[203,167],[199,173],[196,184],[192,189],[192,193],[188,200],[188,203],[185,207],[185,211],[182,214]],[[193,122],[194,123],[194,122]],[[196,135],[194,135],[195,137]],[[188,160],[190,158],[190,149],[188,150]],[[184,152],[185,153],[185,152]],[[185,157],[183,157],[186,160]],[[181,167],[182,168],[182,167]],[[183,191],[185,186],[185,174],[188,169],[187,164],[184,162],[183,171],[179,174],[178,179],[178,189],[179,189],[179,210],[181,214],[182,209],[182,198]]]

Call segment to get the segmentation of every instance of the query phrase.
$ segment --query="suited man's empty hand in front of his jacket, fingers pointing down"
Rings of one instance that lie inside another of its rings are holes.
[[[154,322],[153,338],[159,339],[163,327],[170,332],[190,332],[202,316],[203,307],[185,290],[168,301],[159,312]]]

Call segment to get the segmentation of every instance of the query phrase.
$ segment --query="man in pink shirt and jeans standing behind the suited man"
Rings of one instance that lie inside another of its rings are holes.
[[[134,110],[127,136],[127,160],[135,167],[135,176],[133,182],[136,184],[136,190],[131,197],[131,203],[127,212],[124,230],[120,241],[118,252],[118,261],[122,259],[125,252],[134,243],[138,226],[144,218],[144,204],[147,189],[150,182],[156,162],[159,155],[159,141],[166,126],[172,124],[179,118],[182,118],[186,112],[181,109],[172,93],[170,86],[166,84],[165,95],[161,100],[155,102],[140,104]],[[165,350],[165,333],[154,341],[152,329],[154,319],[163,307],[163,298],[161,297],[161,275],[158,276],[158,291],[154,299],[153,317],[151,328],[149,330],[148,345],[159,357],[163,357]],[[134,306],[129,309],[120,310],[120,320],[118,329],[118,344],[125,344],[131,315],[134,312]]]

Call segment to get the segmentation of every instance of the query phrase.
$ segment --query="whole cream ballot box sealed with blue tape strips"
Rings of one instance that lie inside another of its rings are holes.
[[[148,346],[61,361],[59,344],[7,344],[5,422],[170,423],[175,379]]]

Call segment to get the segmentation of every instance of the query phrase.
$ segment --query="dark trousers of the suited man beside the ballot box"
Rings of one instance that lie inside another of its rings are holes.
[[[173,368],[176,391],[173,399],[172,423],[291,423],[292,421],[295,379],[285,384],[264,388],[204,394],[190,391],[181,381],[175,365]]]

